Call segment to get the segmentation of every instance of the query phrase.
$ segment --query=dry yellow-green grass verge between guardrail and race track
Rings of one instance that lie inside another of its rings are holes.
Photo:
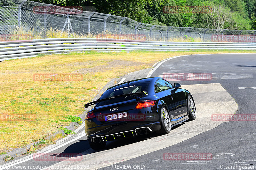
[[[0,153],[40,141],[70,122],[81,124],[77,115],[84,111],[84,103],[92,101],[112,78],[152,67],[172,56],[210,53],[256,51],[91,52],[0,62],[0,114],[13,118],[0,120]],[[77,73],[83,78],[81,81],[35,81],[37,73]],[[15,115],[25,118],[14,119]]]

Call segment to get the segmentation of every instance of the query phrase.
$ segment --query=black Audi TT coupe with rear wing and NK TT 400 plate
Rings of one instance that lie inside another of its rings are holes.
[[[92,149],[106,141],[158,131],[196,118],[196,107],[188,90],[163,78],[142,78],[108,88],[86,114],[85,133]]]

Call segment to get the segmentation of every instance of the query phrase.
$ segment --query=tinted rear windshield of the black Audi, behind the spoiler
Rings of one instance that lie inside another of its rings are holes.
[[[100,99],[105,99],[105,98],[114,97],[114,96],[118,96],[118,95],[129,94],[129,93],[143,92],[143,91],[147,90],[148,83],[149,82],[140,83],[140,84],[132,84],[132,85],[127,84],[126,86],[123,86],[123,87],[116,87],[109,91],[104,92],[101,95]],[[118,98],[113,98],[113,99],[109,99],[106,101],[102,101],[97,106],[103,106],[103,105],[113,104],[113,103],[117,103],[117,102],[122,102],[125,100],[132,100],[132,99],[135,99],[135,98],[133,96],[118,97]]]

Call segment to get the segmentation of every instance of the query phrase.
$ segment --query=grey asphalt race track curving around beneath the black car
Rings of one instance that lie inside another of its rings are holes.
[[[187,55],[156,64],[151,77],[180,83],[196,104],[196,120],[172,128],[170,134],[112,141],[97,152],[90,148],[80,126],[75,135],[39,151],[48,154],[48,159],[38,161],[34,154],[24,155],[4,165],[9,169],[256,169],[255,120],[212,120],[212,115],[234,114],[237,109],[237,114],[251,114],[255,119],[255,58],[256,54]],[[177,75],[178,80],[172,81]],[[197,76],[201,79],[195,79]],[[63,160],[60,153],[81,156]],[[164,160],[165,153],[208,153],[212,157]]]

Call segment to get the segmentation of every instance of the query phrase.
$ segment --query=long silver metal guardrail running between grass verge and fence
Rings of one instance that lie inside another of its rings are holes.
[[[39,54],[60,54],[88,51],[134,50],[256,50],[256,43],[236,42],[169,42],[133,41],[96,38],[50,38],[0,42],[0,61],[35,57]]]

